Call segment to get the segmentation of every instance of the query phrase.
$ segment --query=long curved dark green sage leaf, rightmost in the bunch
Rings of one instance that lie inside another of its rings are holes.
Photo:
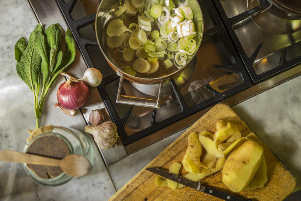
[[[76,56],[76,42],[75,39],[70,31],[70,29],[67,29],[66,31],[66,46],[65,46],[65,52],[64,56],[61,61],[61,65],[52,72],[52,78],[51,80],[54,80],[51,82],[50,86],[52,86],[56,80],[57,75],[60,73],[60,71],[65,70],[75,59]]]

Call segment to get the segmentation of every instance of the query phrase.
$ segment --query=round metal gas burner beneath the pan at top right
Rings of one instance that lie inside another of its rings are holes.
[[[247,0],[248,9],[260,4],[256,0]],[[263,30],[272,34],[292,34],[301,29],[301,16],[294,16],[272,4],[263,4],[262,12],[251,15],[253,21]]]

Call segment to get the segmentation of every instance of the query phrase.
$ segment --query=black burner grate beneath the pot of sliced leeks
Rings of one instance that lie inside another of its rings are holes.
[[[87,39],[82,38],[80,36],[78,30],[81,29],[82,27],[85,27],[89,24],[94,23],[96,13],[88,15],[87,17],[82,18],[80,20],[74,21],[71,17],[71,11],[76,3],[76,0],[71,0],[69,3],[65,3],[63,0],[56,0],[56,1],[66,19],[66,22],[67,22],[69,28],[71,29],[71,31],[77,41],[78,48],[81,51],[82,56],[83,56],[85,62],[87,63],[87,66],[94,67],[92,59],[88,54],[87,47],[89,45],[98,46],[98,43],[96,41],[87,40]],[[233,57],[233,60],[235,61],[233,66],[215,65],[212,67],[215,67],[217,69],[221,69],[221,70],[224,70],[227,72],[231,72],[231,73],[234,72],[234,73],[238,74],[242,80],[242,83],[224,91],[223,93],[219,93],[219,92],[215,91],[214,89],[212,89],[211,87],[206,86],[205,87],[206,90],[208,90],[210,93],[212,93],[212,98],[209,98],[208,100],[203,101],[193,107],[188,107],[187,103],[185,102],[183,96],[181,95],[180,90],[178,89],[175,81],[171,80],[170,81],[171,86],[176,94],[177,101],[180,104],[181,112],[173,115],[172,117],[164,119],[160,122],[156,122],[156,110],[154,110],[150,127],[146,128],[144,130],[138,131],[137,133],[135,133],[133,135],[127,135],[127,133],[124,130],[124,125],[129,117],[129,114],[131,113],[131,111],[133,109],[133,106],[129,107],[129,109],[127,110],[127,112],[124,114],[124,116],[122,118],[119,118],[119,116],[113,106],[113,103],[112,103],[111,99],[109,98],[109,95],[105,88],[106,85],[108,85],[109,83],[118,80],[119,76],[115,73],[113,75],[103,77],[102,83],[97,88],[98,88],[99,93],[101,94],[101,97],[103,98],[103,102],[105,103],[106,107],[108,108],[108,112],[109,112],[112,120],[117,125],[118,133],[121,136],[121,140],[124,143],[124,145],[128,145],[128,144],[134,142],[135,140],[138,140],[140,138],[143,138],[144,136],[150,135],[151,133],[153,133],[157,130],[161,130],[162,128],[164,128],[170,124],[173,124],[173,123],[175,123],[193,113],[196,113],[196,112],[202,110],[203,108],[206,108],[214,103],[218,103],[219,101],[223,100],[224,98],[227,98],[227,97],[251,86],[251,80],[248,76],[248,73],[246,72],[244,65],[240,61],[240,58],[239,58],[228,34],[219,18],[217,11],[214,8],[213,3],[211,2],[211,0],[199,0],[198,2],[202,9],[203,8],[208,9],[210,17],[211,17],[212,21],[214,22],[214,27],[206,30],[204,32],[203,38],[209,37],[212,34],[219,34],[223,40],[224,45],[226,45],[227,49],[229,50],[229,52],[227,52],[227,54],[230,53],[231,56]]]

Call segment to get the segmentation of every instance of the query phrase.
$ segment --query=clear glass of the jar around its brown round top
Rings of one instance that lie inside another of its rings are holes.
[[[30,142],[27,142],[24,147],[24,152],[27,151],[29,145],[37,138],[43,135],[54,135],[61,138],[69,148],[70,154],[79,154],[85,156],[90,162],[92,161],[93,149],[89,138],[83,134],[81,131],[66,128],[61,126],[54,126],[54,129],[49,133],[43,133],[34,137]],[[42,179],[38,177],[31,169],[24,163],[24,170],[26,174],[31,177],[34,181],[39,182],[46,186],[58,186],[69,182],[74,177],[67,175],[65,172],[61,173],[59,176],[49,179]]]

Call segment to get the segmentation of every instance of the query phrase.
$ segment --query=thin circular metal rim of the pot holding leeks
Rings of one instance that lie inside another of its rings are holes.
[[[96,40],[97,40],[97,43],[98,43],[98,46],[99,46],[99,48],[100,48],[100,50],[102,51],[102,53],[103,53],[103,56],[105,57],[105,59],[107,60],[107,62],[110,64],[110,66],[112,65],[112,66],[114,66],[114,68],[116,68],[116,69],[119,69],[117,66],[115,66],[111,61],[110,61],[110,59],[107,57],[107,55],[104,53],[104,50],[103,50],[103,48],[102,48],[102,46],[100,45],[100,40],[98,39],[98,26],[97,26],[97,24],[98,24],[98,13],[99,13],[99,10],[100,10],[100,8],[101,8],[101,4],[104,2],[104,0],[103,1],[101,1],[100,3],[99,3],[99,5],[98,5],[98,9],[97,9],[97,12],[96,12],[96,18],[95,18],[95,35],[96,35]],[[200,5],[199,5],[199,3],[198,3],[198,1],[197,0],[195,0],[195,2],[198,4],[198,8],[199,8],[199,10],[200,10],[200,12],[201,12],[201,15],[202,15],[202,31],[201,31],[201,33],[200,33],[200,37],[201,37],[201,39],[200,39],[200,42],[199,42],[199,44],[198,44],[198,47],[197,47],[197,49],[196,49],[196,51],[193,53],[193,56],[192,56],[192,58],[193,57],[195,57],[196,55],[197,55],[197,52],[198,52],[198,49],[199,49],[199,47],[200,47],[200,44],[201,44],[201,42],[202,42],[202,40],[203,40],[203,33],[204,33],[204,19],[203,19],[203,12],[202,12],[202,9],[201,9],[201,7],[200,7]],[[162,76],[162,77],[155,77],[155,78],[143,78],[143,77],[136,77],[136,76],[132,76],[132,75],[129,75],[129,74],[127,74],[127,73],[125,73],[124,71],[121,71],[121,70],[119,70],[118,72],[119,73],[122,73],[123,75],[124,75],[124,78],[129,78],[132,82],[137,82],[137,83],[139,83],[138,81],[136,81],[136,80],[140,80],[141,82],[148,82],[148,81],[150,81],[150,82],[155,82],[156,80],[158,80],[158,81],[160,81],[160,80],[164,80],[164,79],[167,79],[167,78],[169,78],[169,77],[172,77],[172,76],[174,76],[174,75],[177,75],[177,74],[179,74],[180,72],[182,72],[182,70],[190,63],[192,61],[192,59],[190,59],[190,61],[189,62],[187,62],[186,63],[186,65],[185,66],[183,66],[182,68],[180,68],[180,69],[178,69],[177,71],[174,71],[174,72],[172,72],[172,73],[170,73],[170,74],[168,74],[168,75],[166,75],[166,76]],[[117,73],[117,71],[113,68],[111,66],[111,68]]]

